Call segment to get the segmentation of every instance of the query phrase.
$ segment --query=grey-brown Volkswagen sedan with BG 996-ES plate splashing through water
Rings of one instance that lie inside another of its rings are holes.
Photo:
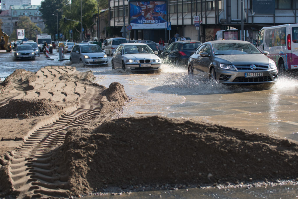
[[[277,68],[266,55],[248,41],[209,41],[190,56],[188,74],[205,73],[223,84],[275,83]]]

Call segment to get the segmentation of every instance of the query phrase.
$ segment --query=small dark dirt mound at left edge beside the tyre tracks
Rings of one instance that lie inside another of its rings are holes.
[[[0,108],[0,118],[53,115],[61,110],[63,107],[48,99],[11,99]]]

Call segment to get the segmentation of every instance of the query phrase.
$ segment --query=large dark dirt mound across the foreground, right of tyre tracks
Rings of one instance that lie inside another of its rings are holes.
[[[72,129],[61,150],[74,194],[139,184],[297,177],[295,141],[159,116],[114,119],[93,130]]]

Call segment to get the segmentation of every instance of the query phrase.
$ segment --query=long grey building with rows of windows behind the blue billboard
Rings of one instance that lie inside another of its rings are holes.
[[[109,22],[111,27],[123,26],[123,2],[125,25],[129,24],[128,1],[109,1]],[[210,41],[218,30],[243,28],[249,38],[255,39],[264,26],[297,23],[297,0],[167,0],[167,21],[171,30],[139,29],[131,31],[131,39],[158,41],[159,38],[172,38],[178,33],[191,39]],[[241,7],[242,5],[242,7]],[[242,8],[242,9],[241,9]],[[194,18],[199,16],[200,25],[195,26]],[[199,30],[198,30],[199,29]],[[240,39],[240,38],[239,38]]]

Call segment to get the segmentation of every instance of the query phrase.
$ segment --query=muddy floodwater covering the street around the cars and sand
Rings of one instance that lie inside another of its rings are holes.
[[[15,69],[36,72],[44,66],[71,65],[58,61],[58,53],[37,57],[35,61],[14,61],[12,53],[0,53],[0,78],[3,81]],[[69,54],[65,55],[69,58]],[[109,57],[110,59],[111,57]],[[109,67],[84,67],[92,70],[95,82],[108,87],[112,82],[124,86],[131,98],[123,107],[123,117],[160,115],[190,118],[229,127],[277,135],[298,141],[298,77],[292,73],[279,77],[272,87],[226,86],[205,77],[190,77],[185,67],[163,64],[160,73],[132,73]],[[298,187],[291,185],[229,189],[179,189],[175,191],[137,192],[103,198],[297,198]]]

